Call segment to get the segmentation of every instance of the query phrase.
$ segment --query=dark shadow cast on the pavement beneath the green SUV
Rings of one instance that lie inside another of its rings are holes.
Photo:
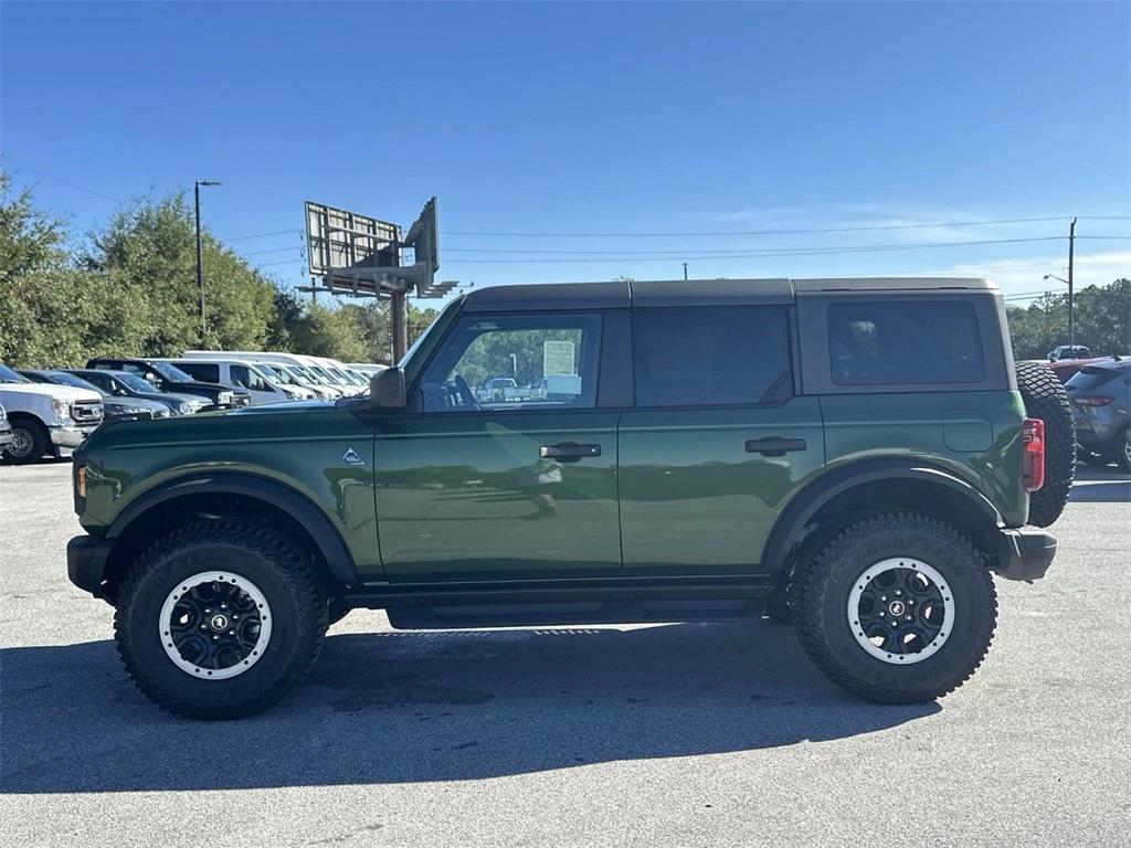
[[[837,739],[940,710],[844,694],[769,622],[331,633],[282,704],[219,724],[152,706],[110,641],[0,664],[9,794],[465,780]]]

